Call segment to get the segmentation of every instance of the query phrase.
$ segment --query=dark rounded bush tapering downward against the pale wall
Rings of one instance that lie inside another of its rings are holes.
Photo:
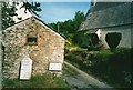
[[[116,49],[116,47],[120,43],[121,38],[122,38],[122,34],[117,32],[106,34],[105,41],[108,42],[111,51],[114,51]]]

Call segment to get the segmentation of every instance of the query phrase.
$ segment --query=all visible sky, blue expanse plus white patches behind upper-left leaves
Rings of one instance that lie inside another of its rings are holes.
[[[73,2],[69,2],[69,1],[66,2],[66,0],[62,0],[62,1],[31,0],[31,1],[38,1],[41,3],[42,11],[38,12],[38,14],[40,16],[40,19],[45,23],[53,23],[58,21],[65,21],[69,19],[73,19],[76,11],[81,11],[84,14],[86,14],[86,12],[90,9],[90,0],[83,2],[81,2],[81,0]],[[22,17],[22,20],[31,17],[31,13],[29,11],[24,13],[24,8],[20,9],[21,6],[22,2],[17,7],[18,16]],[[19,22],[20,20],[18,20],[17,17],[14,17],[14,21]]]

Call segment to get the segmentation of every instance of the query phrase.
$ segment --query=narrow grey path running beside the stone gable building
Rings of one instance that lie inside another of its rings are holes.
[[[75,74],[70,74],[66,73],[65,70],[63,71],[63,78],[68,81],[71,88],[92,88],[91,90],[95,88],[110,88],[111,90],[114,90],[112,87],[100,82],[99,80],[94,79],[93,77],[89,76],[88,73],[81,71],[80,69],[75,68],[74,66],[64,61],[64,64],[69,67],[70,69],[73,69],[73,73]]]

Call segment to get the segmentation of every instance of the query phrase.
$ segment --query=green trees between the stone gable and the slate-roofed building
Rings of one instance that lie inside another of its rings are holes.
[[[88,36],[78,32],[78,29],[84,19],[84,13],[81,11],[76,11],[73,19],[66,20],[64,22],[59,21],[57,23],[49,23],[48,26],[54,31],[59,32],[70,42],[73,41],[73,43],[75,44],[84,46],[89,44],[89,38]],[[88,41],[85,42],[84,39]]]

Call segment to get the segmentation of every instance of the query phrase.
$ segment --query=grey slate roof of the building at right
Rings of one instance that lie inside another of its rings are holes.
[[[89,10],[79,31],[133,24],[132,18],[133,2],[98,2]]]

